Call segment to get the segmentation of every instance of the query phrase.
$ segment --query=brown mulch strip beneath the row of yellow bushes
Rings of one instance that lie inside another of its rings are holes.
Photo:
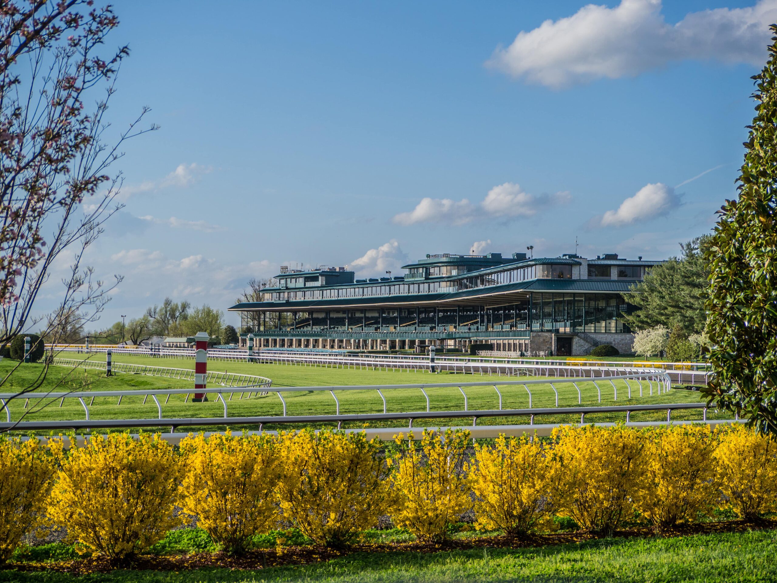
[[[743,532],[747,530],[777,528],[777,520],[761,520],[747,522],[732,520],[726,522],[697,522],[691,525],[678,526],[674,529],[657,532],[649,527],[619,530],[615,536],[624,538],[650,536],[688,536],[695,534],[711,534],[714,532]],[[190,553],[187,555],[168,555],[157,557],[142,555],[125,568],[150,571],[184,571],[191,569],[221,567],[232,570],[256,571],[267,567],[287,565],[304,565],[319,563],[346,557],[351,553],[438,553],[446,550],[471,550],[482,548],[518,549],[526,547],[556,546],[570,543],[582,543],[587,540],[601,538],[591,532],[552,532],[533,534],[521,539],[507,536],[480,536],[471,539],[453,539],[444,544],[432,543],[376,543],[355,544],[347,550],[326,549],[320,546],[287,546],[265,550],[252,550],[244,557],[229,557],[224,553]],[[17,571],[56,571],[82,575],[88,573],[107,573],[113,571],[116,565],[100,557],[86,557],[80,560],[63,560],[44,563],[12,563],[5,565],[6,569]]]

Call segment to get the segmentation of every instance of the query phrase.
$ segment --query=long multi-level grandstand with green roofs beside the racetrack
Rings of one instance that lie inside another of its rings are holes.
[[[277,287],[242,302],[240,343],[256,350],[468,350],[492,344],[506,354],[587,354],[599,344],[631,352],[623,292],[660,261],[565,254],[527,258],[427,255],[395,277],[356,279],[345,267],[282,267]]]

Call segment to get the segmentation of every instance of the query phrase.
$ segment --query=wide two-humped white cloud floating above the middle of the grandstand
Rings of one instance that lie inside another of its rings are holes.
[[[489,190],[479,204],[472,204],[466,198],[455,202],[450,198],[425,197],[412,211],[395,215],[394,222],[399,225],[423,222],[465,225],[485,219],[507,221],[531,217],[551,204],[566,204],[570,200],[568,192],[535,196],[525,192],[519,184],[506,182]]]

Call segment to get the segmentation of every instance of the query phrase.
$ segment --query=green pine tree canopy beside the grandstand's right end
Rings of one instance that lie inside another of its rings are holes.
[[[643,281],[625,293],[626,302],[639,307],[623,319],[634,330],[681,326],[685,333],[702,333],[706,323],[704,292],[709,276],[709,260],[704,251],[709,236],[681,243],[681,257],[670,257],[646,274]]]

